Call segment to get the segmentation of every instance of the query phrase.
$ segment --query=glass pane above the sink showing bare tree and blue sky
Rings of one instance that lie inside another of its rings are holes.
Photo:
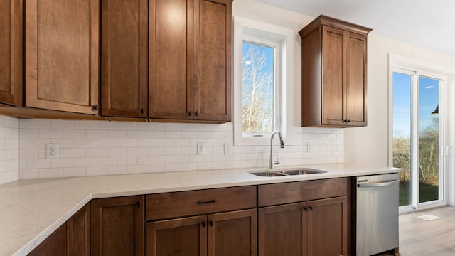
[[[274,130],[274,48],[243,42],[242,133]]]

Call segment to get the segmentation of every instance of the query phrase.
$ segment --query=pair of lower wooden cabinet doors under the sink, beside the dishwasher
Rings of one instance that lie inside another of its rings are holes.
[[[259,208],[259,255],[347,255],[346,196]]]

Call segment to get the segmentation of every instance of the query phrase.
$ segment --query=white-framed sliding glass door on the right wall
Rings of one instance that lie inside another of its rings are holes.
[[[393,166],[400,174],[400,210],[444,201],[444,80],[396,69],[393,73]]]

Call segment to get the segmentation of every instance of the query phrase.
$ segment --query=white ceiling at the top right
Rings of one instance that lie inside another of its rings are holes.
[[[324,14],[371,33],[455,56],[454,0],[256,0],[307,16]]]

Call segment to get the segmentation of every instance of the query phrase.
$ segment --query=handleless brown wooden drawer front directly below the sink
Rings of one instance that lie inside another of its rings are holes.
[[[283,203],[296,203],[335,196],[346,196],[347,193],[346,178],[275,183],[258,186],[257,204],[259,207],[274,206]]]

